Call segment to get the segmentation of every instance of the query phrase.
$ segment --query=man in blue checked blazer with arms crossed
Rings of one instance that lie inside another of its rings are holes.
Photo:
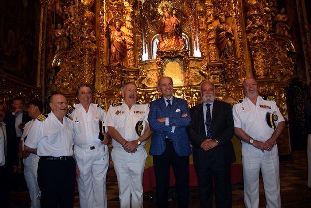
[[[186,132],[186,126],[190,124],[188,105],[187,101],[172,95],[172,78],[161,77],[157,85],[163,97],[151,102],[148,115],[150,128],[154,131],[149,153],[153,155],[157,207],[168,208],[169,172],[172,165],[178,208],[187,208],[191,154]]]

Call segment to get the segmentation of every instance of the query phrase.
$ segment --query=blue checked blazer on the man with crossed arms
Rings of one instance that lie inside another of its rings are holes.
[[[182,118],[181,115],[184,113],[187,113],[188,116]],[[169,126],[157,121],[158,118],[166,117],[169,118]],[[151,155],[161,155],[164,152],[166,136],[173,140],[174,149],[179,156],[189,156],[191,154],[186,131],[186,127],[190,124],[187,101],[173,97],[170,110],[166,107],[163,97],[152,101],[150,103],[148,122],[151,130],[154,131],[149,151]],[[178,128],[175,128],[174,133],[171,132],[172,126],[178,126]]]

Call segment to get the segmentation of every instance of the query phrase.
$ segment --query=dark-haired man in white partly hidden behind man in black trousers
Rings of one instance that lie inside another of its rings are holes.
[[[27,139],[28,133],[31,128],[38,129],[41,121],[45,119],[46,115],[42,115],[43,111],[43,103],[40,100],[33,100],[28,102],[28,115],[33,119],[28,121],[24,127],[23,135],[21,136],[19,142],[19,158],[24,158],[24,176],[26,180],[26,184],[29,190],[30,197],[30,207],[31,208],[40,208],[40,200],[37,199],[37,195],[39,194],[39,186],[38,186],[38,163],[39,156],[35,153],[30,153],[24,150],[24,142]]]

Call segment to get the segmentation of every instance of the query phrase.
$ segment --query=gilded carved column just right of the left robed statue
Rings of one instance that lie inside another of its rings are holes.
[[[125,10],[126,10],[126,29],[127,29],[127,62],[129,67],[135,66],[135,48],[134,48],[134,34],[133,34],[133,1],[124,1]]]

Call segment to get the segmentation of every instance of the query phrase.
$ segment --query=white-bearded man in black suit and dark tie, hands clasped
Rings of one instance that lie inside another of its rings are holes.
[[[231,106],[215,100],[212,82],[202,82],[200,89],[203,103],[190,109],[191,123],[187,129],[193,144],[200,208],[213,207],[213,179],[216,207],[231,208],[230,164],[235,161]]]

